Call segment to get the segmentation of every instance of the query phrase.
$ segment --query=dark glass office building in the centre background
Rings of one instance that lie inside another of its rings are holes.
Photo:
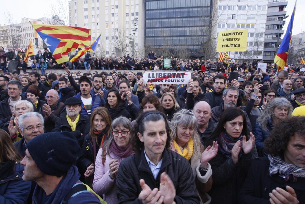
[[[202,55],[211,13],[212,0],[145,0],[145,45],[187,46],[193,55]]]

